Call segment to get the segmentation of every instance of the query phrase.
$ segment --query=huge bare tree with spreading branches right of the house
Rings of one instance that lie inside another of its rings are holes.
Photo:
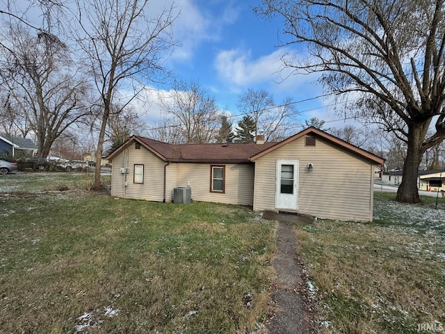
[[[284,44],[307,46],[305,61],[287,54],[284,66],[319,72],[331,93],[359,95],[355,115],[406,144],[396,199],[419,202],[421,157],[445,138],[445,1],[264,0],[256,10],[284,19]]]

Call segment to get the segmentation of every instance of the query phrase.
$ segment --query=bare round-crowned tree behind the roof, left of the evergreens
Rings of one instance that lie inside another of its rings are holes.
[[[221,112],[215,98],[194,81],[176,81],[168,96],[160,98],[160,105],[179,125],[182,143],[211,143],[220,127]]]

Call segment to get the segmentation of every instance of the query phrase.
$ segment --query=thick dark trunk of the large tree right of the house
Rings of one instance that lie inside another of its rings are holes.
[[[408,142],[402,182],[398,187],[396,201],[404,203],[420,202],[417,188],[417,175],[422,158],[422,143],[428,130],[429,121],[408,125]]]

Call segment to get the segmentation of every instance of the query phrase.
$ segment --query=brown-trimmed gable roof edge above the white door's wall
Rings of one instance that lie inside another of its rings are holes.
[[[280,141],[280,143],[276,143],[275,145],[268,148],[267,150],[263,150],[262,152],[255,154],[254,156],[251,157],[250,160],[255,161],[255,160],[259,159],[260,157],[263,157],[264,155],[268,154],[269,152],[272,152],[273,150],[277,150],[277,148],[281,148],[282,146],[284,146],[288,143],[291,143],[292,141],[295,141],[296,139],[301,138],[302,136],[305,136],[307,134],[314,134],[321,138],[325,138],[327,141],[330,141],[334,145],[337,145],[341,148],[349,150],[350,152],[357,154],[359,157],[370,160],[375,164],[385,163],[385,159],[383,159],[382,157],[378,157],[377,155],[372,154],[371,152],[362,150],[361,148],[357,148],[357,146],[350,144],[346,141],[343,141],[342,139],[337,138],[336,136],[332,136],[332,134],[327,134],[326,132],[321,131],[320,129],[317,129],[316,127],[308,127],[307,129],[302,130],[302,132],[298,132],[298,134],[294,134],[293,136],[291,136],[287,139],[284,139],[284,141]]]

